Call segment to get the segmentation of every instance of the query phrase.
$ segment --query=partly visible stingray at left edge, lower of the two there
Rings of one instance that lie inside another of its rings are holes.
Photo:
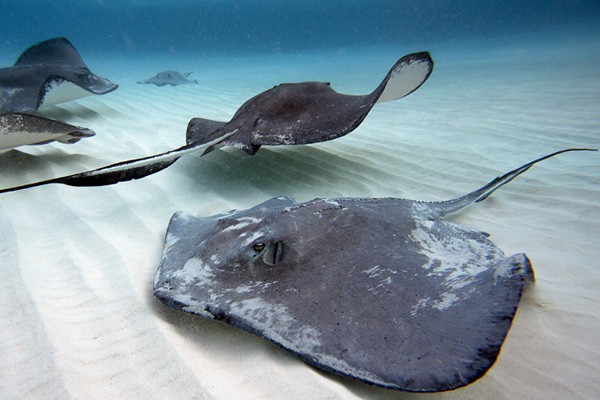
[[[22,113],[0,114],[0,149],[53,141],[72,144],[95,133],[87,128]]]

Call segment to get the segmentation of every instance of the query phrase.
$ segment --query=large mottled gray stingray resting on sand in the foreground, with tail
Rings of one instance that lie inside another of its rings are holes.
[[[506,257],[487,234],[442,218],[575,150],[588,149],[449,201],[279,197],[210,217],[176,213],[154,295],[373,385],[467,385],[498,357],[533,270],[525,254]]]

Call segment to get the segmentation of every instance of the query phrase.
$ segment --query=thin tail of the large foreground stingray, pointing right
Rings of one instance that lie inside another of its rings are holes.
[[[529,168],[531,168],[533,165],[537,164],[538,162],[546,160],[551,157],[554,157],[558,154],[567,153],[570,151],[598,151],[598,149],[589,149],[589,148],[564,149],[564,150],[559,150],[554,153],[545,155],[545,156],[535,159],[533,161],[530,161],[527,164],[520,166],[519,168],[515,168],[512,171],[509,171],[502,176],[498,176],[498,177],[494,178],[487,185],[485,185],[469,194],[466,194],[462,197],[452,199],[452,200],[447,200],[447,201],[429,203],[429,205],[431,205],[431,208],[433,210],[435,210],[433,213],[434,214],[433,217],[434,218],[443,217],[445,215],[461,211],[463,208],[465,208],[473,203],[478,203],[480,201],[483,201],[483,200],[487,199],[489,196],[491,196],[491,194],[494,193],[496,190],[498,190],[502,186],[506,185],[507,183],[509,183],[510,181],[515,179],[517,176],[526,172],[527,170],[529,170]]]

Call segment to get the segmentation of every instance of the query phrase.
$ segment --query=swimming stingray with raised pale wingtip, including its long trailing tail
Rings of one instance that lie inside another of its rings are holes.
[[[429,77],[433,61],[427,52],[409,54],[394,64],[370,94],[341,94],[323,82],[284,83],[246,101],[229,122],[194,118],[187,144],[165,153],[127,160],[70,176],[0,190],[0,193],[49,183],[101,186],[139,179],[173,164],[184,154],[233,146],[255,154],[263,145],[323,142],[352,132],[376,103],[400,99]]]

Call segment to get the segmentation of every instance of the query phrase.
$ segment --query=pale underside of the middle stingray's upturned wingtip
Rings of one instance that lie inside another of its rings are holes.
[[[425,83],[432,70],[433,60],[426,51],[402,57],[373,92],[377,103],[408,96]]]

